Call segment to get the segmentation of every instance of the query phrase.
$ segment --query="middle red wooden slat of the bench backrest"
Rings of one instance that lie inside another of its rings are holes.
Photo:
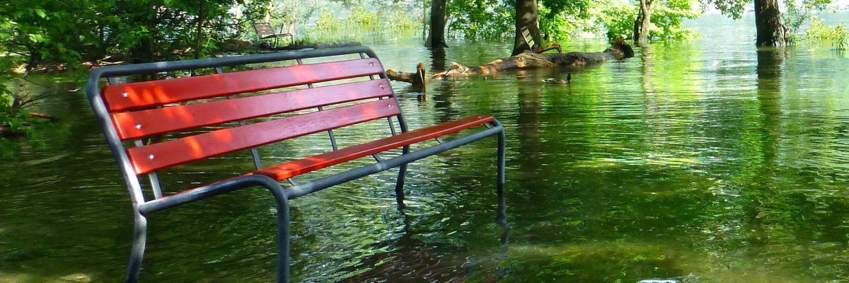
[[[112,121],[121,139],[138,139],[193,127],[240,121],[359,99],[386,97],[391,94],[391,87],[386,80],[351,82],[193,105],[118,112],[112,115]]]

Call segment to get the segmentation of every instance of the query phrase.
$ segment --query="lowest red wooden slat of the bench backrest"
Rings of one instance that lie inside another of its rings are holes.
[[[150,173],[190,161],[399,113],[395,99],[381,99],[144,145],[128,149],[127,155],[137,174]]]

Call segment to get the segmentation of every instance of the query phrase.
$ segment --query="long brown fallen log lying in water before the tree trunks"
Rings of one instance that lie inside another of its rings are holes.
[[[614,42],[610,48],[603,52],[569,52],[564,54],[537,54],[526,51],[525,53],[497,59],[484,65],[466,66],[452,62],[451,68],[434,74],[433,79],[441,79],[445,76],[469,76],[469,75],[492,75],[500,71],[537,69],[556,66],[584,66],[603,63],[612,59],[625,59],[634,56],[633,48],[625,42]],[[419,69],[420,68],[420,69]],[[386,70],[386,75],[391,80],[413,83],[414,86],[424,85],[428,79],[421,76],[424,65],[419,63],[417,73],[406,73],[402,71]]]

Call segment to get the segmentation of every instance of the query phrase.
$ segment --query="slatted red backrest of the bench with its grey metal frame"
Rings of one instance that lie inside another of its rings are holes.
[[[337,54],[360,56],[301,64],[300,58]],[[100,77],[198,68],[216,68],[220,72],[219,67],[224,65],[285,59],[297,59],[297,64],[113,84],[102,91],[91,87],[93,80]],[[138,175],[360,122],[396,116],[402,132],[407,130],[383,67],[368,48],[317,49],[120,67],[93,72],[87,92],[115,158],[122,163],[122,169],[130,171],[124,175],[131,178],[127,180],[131,187],[138,187],[138,179],[132,180]],[[313,86],[320,82],[322,87]],[[290,113],[293,111],[297,112]],[[279,115],[284,113],[289,115]],[[245,124],[245,120],[255,122]],[[225,123],[233,124],[231,122],[243,123],[151,144],[138,142],[166,133],[181,132],[182,135],[186,130],[221,127]],[[391,125],[392,122],[390,127],[394,133]],[[132,143],[133,140],[136,142]],[[155,187],[159,190],[158,184]],[[159,197],[161,192],[155,191],[154,195]]]

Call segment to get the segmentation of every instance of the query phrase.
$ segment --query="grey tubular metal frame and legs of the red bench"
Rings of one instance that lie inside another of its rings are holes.
[[[382,159],[378,156],[374,156],[375,162],[373,164],[363,167],[357,167],[343,173],[336,173],[329,177],[318,178],[303,184],[295,184],[293,182],[292,186],[286,188],[284,188],[284,186],[281,186],[278,183],[277,179],[271,178],[268,175],[249,173],[234,178],[228,178],[217,183],[207,184],[191,190],[184,190],[173,195],[163,195],[160,190],[159,180],[158,178],[156,178],[155,171],[151,173],[142,174],[136,173],[135,170],[137,168],[134,167],[130,156],[128,156],[128,148],[138,149],[138,147],[142,147],[145,144],[141,141],[141,139],[136,139],[134,144],[135,147],[132,147],[132,144],[130,144],[130,142],[128,141],[132,139],[127,139],[126,137],[124,139],[121,138],[119,133],[116,131],[116,125],[111,116],[115,114],[115,110],[110,111],[110,109],[104,102],[104,93],[101,93],[101,82],[104,78],[107,79],[110,84],[115,86],[114,78],[117,76],[156,74],[166,71],[197,70],[204,68],[215,68],[218,73],[222,73],[222,66],[266,63],[281,60],[297,60],[298,65],[301,65],[301,59],[335,56],[343,54],[359,54],[360,58],[376,59],[377,57],[371,49],[363,46],[355,46],[346,48],[301,50],[295,52],[281,52],[273,54],[255,54],[215,59],[193,59],[138,65],[113,65],[101,67],[92,71],[92,73],[90,74],[90,76],[88,76],[87,79],[87,96],[91,102],[94,113],[97,116],[100,127],[103,130],[107,144],[109,145],[110,150],[112,151],[115,161],[117,161],[118,163],[118,167],[120,167],[121,169],[121,175],[124,177],[127,183],[127,190],[129,191],[130,199],[132,201],[132,211],[134,216],[135,229],[133,232],[132,252],[127,268],[127,282],[136,282],[138,280],[138,275],[141,269],[143,253],[146,244],[148,221],[146,216],[149,215],[149,213],[159,212],[168,208],[183,205],[188,202],[200,201],[211,196],[222,195],[224,193],[228,193],[234,190],[240,190],[247,187],[265,188],[272,193],[274,200],[276,201],[276,206],[278,210],[277,278],[278,282],[288,282],[290,274],[290,200],[302,195],[310,194],[312,192],[327,189],[336,184],[342,184],[356,178],[362,178],[372,173],[385,171],[392,167],[400,167],[396,180],[395,191],[396,197],[398,198],[398,203],[401,207],[403,207],[402,201],[404,195],[404,175],[407,171],[407,164],[409,162],[422,159],[426,156],[432,156],[446,150],[451,150],[461,145],[469,144],[476,140],[484,139],[490,136],[498,136],[498,173],[496,176],[498,211],[496,212],[496,220],[498,224],[500,224],[503,228],[509,229],[506,226],[506,204],[504,201],[505,135],[502,125],[494,118],[492,118],[491,122],[481,124],[481,126],[486,126],[486,128],[479,132],[470,133],[452,140],[442,140],[437,137],[436,140],[439,141],[439,144],[412,152],[410,151],[409,144],[406,144],[402,147],[401,156],[396,156],[391,159]],[[380,61],[377,62],[378,64],[380,64]],[[380,70],[383,70],[382,67],[380,67]],[[383,71],[383,73],[377,76],[379,76],[380,79],[385,79],[385,71]],[[372,80],[374,80],[374,76],[370,77]],[[312,88],[312,85],[309,86],[310,88]],[[391,89],[391,86],[389,87]],[[127,97],[127,93],[124,93],[124,97]],[[397,104],[397,99],[394,91],[391,91],[391,99],[393,99],[394,103]],[[318,110],[321,111],[321,108],[319,107]],[[408,127],[406,122],[404,122],[404,118],[401,114],[400,109],[398,110],[398,113],[399,114],[397,114],[396,116],[390,116],[386,118],[390,122],[393,136],[395,136],[395,130],[394,126],[392,126],[392,117],[397,118],[397,122],[401,127],[401,132],[408,133]],[[244,122],[240,122],[239,125],[244,126],[245,124]],[[329,133],[335,151],[335,139],[333,138],[333,133]],[[126,146],[128,144],[129,146]],[[256,149],[252,148],[251,151],[254,157],[254,161],[256,163],[256,167],[257,169],[259,169],[261,167],[261,164],[259,161],[259,156],[256,153]],[[151,155],[150,158],[153,159],[153,156]],[[139,181],[139,178],[143,177],[144,175],[147,175],[147,177],[149,177],[151,187],[153,189],[154,198],[152,200],[145,199],[143,187]]]

